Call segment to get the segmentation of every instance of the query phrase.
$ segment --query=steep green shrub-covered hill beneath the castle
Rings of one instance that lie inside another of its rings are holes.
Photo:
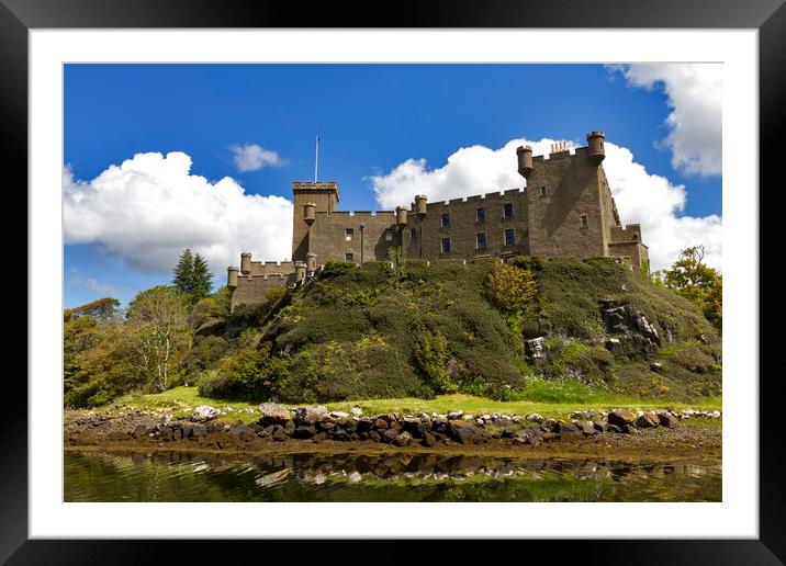
[[[202,395],[226,399],[720,394],[717,331],[647,274],[604,258],[519,258],[517,265],[329,264],[267,304],[202,321],[184,363]],[[496,280],[513,286],[490,285],[496,270],[518,270]],[[534,293],[519,292],[530,288],[517,287],[519,280],[534,282]],[[609,327],[600,301],[622,313],[627,330]],[[630,324],[642,318],[643,333]],[[544,356],[532,359],[525,340],[537,337]]]

